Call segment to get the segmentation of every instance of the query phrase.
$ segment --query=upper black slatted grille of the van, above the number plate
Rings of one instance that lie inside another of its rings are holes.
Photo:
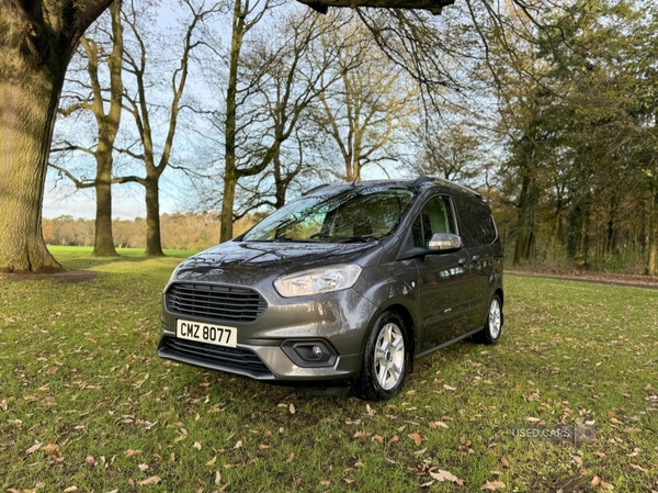
[[[171,313],[213,322],[253,322],[268,307],[257,291],[235,285],[172,284],[166,299]]]

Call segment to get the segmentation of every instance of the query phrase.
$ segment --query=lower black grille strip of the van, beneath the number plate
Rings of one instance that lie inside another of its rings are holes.
[[[198,362],[246,370],[252,376],[271,374],[265,363],[257,355],[245,349],[214,346],[212,344],[177,339],[175,337],[164,337],[160,348],[172,352],[174,356],[190,358]]]

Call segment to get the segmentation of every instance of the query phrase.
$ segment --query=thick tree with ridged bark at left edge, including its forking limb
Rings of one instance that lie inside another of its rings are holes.
[[[66,67],[107,0],[0,2],[0,271],[61,270],[42,202]]]

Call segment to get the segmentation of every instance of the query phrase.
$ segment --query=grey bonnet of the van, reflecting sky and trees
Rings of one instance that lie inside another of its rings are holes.
[[[227,242],[184,260],[172,280],[251,285],[259,280],[337,264],[376,264],[378,244]]]

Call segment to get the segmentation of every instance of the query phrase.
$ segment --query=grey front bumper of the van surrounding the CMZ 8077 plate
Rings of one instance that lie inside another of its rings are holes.
[[[159,356],[268,382],[331,382],[359,374],[365,337],[376,311],[370,301],[352,289],[296,299],[284,299],[272,292],[261,294],[268,302],[262,315],[251,323],[232,324],[238,330],[236,348],[177,338],[178,318],[226,323],[179,315],[163,303]],[[298,358],[290,356],[291,346],[314,340],[325,341],[334,351],[330,365],[299,363]]]

